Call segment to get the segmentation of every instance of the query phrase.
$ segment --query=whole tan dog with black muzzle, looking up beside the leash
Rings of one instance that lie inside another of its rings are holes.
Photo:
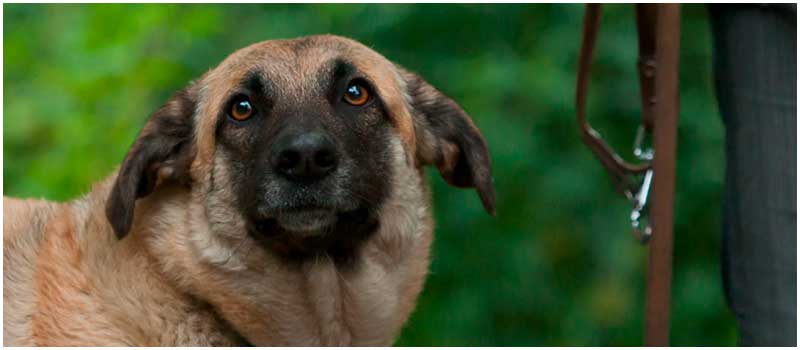
[[[3,199],[3,340],[391,345],[428,271],[429,165],[494,215],[483,136],[419,76],[332,35],[240,49],[88,194]]]

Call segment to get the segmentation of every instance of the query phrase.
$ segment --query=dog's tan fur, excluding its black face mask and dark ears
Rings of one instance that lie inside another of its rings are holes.
[[[104,214],[116,173],[69,203],[4,198],[6,345],[392,344],[422,289],[433,226],[404,86],[388,60],[361,44],[307,40],[315,49],[296,64],[254,65],[294,54],[293,41],[269,41],[200,78],[193,186],[166,183],[138,200],[125,239]],[[256,246],[233,209],[213,126],[233,78],[254,67],[289,71],[282,86],[304,94],[289,76],[313,74],[333,54],[379,80],[396,128],[381,228],[346,269],[327,257],[286,264]]]

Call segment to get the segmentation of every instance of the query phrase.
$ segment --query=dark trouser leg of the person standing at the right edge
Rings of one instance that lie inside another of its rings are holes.
[[[723,280],[741,345],[797,339],[796,12],[709,6],[726,128]]]

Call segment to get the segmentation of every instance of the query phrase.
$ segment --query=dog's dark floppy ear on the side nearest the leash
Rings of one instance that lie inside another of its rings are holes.
[[[417,158],[435,164],[450,185],[474,187],[495,215],[495,194],[486,141],[455,101],[416,74],[401,69],[417,137]]]

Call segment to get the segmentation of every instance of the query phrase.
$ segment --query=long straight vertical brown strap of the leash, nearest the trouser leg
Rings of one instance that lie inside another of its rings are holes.
[[[647,270],[645,345],[669,345],[672,285],[672,219],[678,128],[680,4],[659,4],[656,23],[656,103],[653,109],[653,192]]]

